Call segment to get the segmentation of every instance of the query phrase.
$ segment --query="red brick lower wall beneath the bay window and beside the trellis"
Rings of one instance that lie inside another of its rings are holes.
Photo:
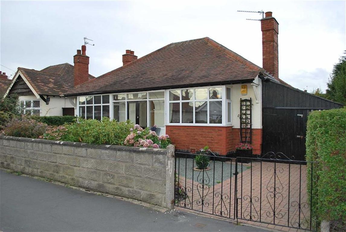
[[[252,129],[254,154],[261,153],[262,129]],[[208,145],[214,152],[226,155],[239,143],[239,128],[232,126],[166,126],[178,150],[199,150]]]

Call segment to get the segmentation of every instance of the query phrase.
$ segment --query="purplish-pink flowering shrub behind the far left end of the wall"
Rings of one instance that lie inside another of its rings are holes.
[[[46,132],[47,127],[47,124],[37,122],[28,117],[23,117],[22,119],[12,118],[6,125],[3,134],[37,139]]]

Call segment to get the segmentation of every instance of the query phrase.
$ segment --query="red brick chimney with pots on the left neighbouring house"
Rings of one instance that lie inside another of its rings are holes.
[[[89,80],[89,56],[86,55],[86,46],[82,45],[82,50],[77,50],[73,56],[74,86],[78,86]]]

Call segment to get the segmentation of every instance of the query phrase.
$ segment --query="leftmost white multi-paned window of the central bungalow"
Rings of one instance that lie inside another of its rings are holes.
[[[79,97],[79,116],[82,118],[109,118],[109,110],[109,95]]]

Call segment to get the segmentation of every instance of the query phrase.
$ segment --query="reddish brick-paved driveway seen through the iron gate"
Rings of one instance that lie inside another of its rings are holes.
[[[253,162],[252,168],[251,164],[243,165],[249,167],[237,176],[238,218],[252,221],[239,220],[240,222],[282,231],[299,231],[284,226],[299,227],[300,225],[310,229],[306,165],[273,162]],[[274,175],[274,167],[276,175]],[[180,200],[176,205],[207,214],[235,218],[235,176],[219,184],[214,182],[215,185],[213,185],[213,180],[208,180],[208,172],[213,170],[204,171],[204,184],[201,184],[202,178],[199,181],[201,183],[185,179],[182,174],[184,170],[180,171],[179,182],[185,188],[186,180],[188,197]],[[196,171],[195,175],[198,173],[199,171]],[[200,176],[202,175],[201,172]],[[313,223],[312,220],[312,230]]]

